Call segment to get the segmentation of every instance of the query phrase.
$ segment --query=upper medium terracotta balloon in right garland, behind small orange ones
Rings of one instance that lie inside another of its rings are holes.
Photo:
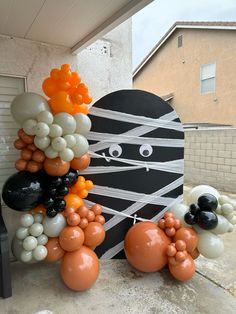
[[[174,242],[183,240],[186,243],[187,252],[193,252],[198,244],[198,235],[192,228],[180,228],[176,231]]]

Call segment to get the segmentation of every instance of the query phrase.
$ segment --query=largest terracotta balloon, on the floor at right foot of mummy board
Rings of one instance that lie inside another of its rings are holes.
[[[155,272],[167,264],[170,239],[153,222],[139,222],[125,237],[125,254],[129,263],[143,272]]]

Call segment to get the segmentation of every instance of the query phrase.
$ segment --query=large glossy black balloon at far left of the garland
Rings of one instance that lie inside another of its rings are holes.
[[[5,182],[2,198],[5,204],[18,211],[27,211],[42,203],[46,190],[45,175],[39,171],[20,171]]]

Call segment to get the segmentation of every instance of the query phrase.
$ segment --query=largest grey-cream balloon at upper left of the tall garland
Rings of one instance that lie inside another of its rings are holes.
[[[50,111],[47,100],[36,93],[23,93],[11,103],[11,114],[20,125],[29,119],[36,119],[41,111]]]

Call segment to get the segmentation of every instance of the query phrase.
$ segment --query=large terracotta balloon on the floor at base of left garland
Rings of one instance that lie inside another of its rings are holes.
[[[65,285],[75,291],[89,289],[97,280],[99,260],[89,248],[66,253],[62,259],[60,273]]]

